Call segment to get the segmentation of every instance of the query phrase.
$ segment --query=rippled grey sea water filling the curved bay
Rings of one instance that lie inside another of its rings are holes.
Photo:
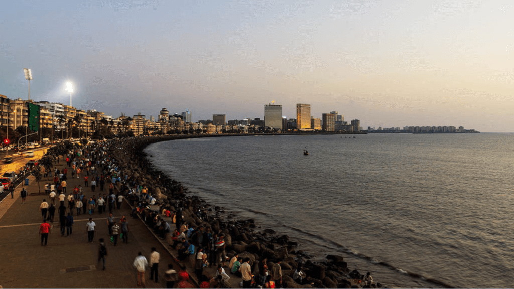
[[[514,286],[512,134],[213,137],[146,152],[313,261],[341,255],[393,287]]]

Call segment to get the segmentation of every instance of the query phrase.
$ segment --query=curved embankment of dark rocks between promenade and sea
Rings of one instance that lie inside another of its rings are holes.
[[[371,286],[364,285],[364,276],[348,268],[341,256],[329,255],[323,262],[311,262],[304,252],[295,251],[297,243],[290,241],[288,236],[280,235],[272,229],[258,231],[251,219],[231,218],[233,215],[227,215],[222,208],[211,206],[190,194],[179,182],[155,168],[143,151],[154,142],[190,137],[194,136],[113,140],[110,141],[107,153],[116,160],[119,169],[128,171],[130,178],[135,179],[139,185],[148,187],[149,193],[156,195],[163,206],[171,209],[175,202],[181,201],[184,204],[182,215],[187,224],[203,225],[211,227],[213,232],[224,233],[227,255],[239,254],[243,259],[250,258],[252,272],[256,272],[260,260],[267,259],[269,270],[279,263],[283,275],[282,286],[285,288],[381,287],[376,280]],[[198,210],[206,212],[206,218],[200,220],[194,213]],[[299,266],[307,276],[301,284],[292,279]]]

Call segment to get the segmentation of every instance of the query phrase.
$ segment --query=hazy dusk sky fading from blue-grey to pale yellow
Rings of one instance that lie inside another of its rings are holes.
[[[337,111],[514,132],[510,1],[10,1],[0,94],[118,117]]]

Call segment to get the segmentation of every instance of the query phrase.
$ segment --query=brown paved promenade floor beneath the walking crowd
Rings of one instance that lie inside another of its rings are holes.
[[[66,162],[61,160],[57,167],[62,169],[65,165]],[[80,184],[84,187],[83,176],[84,174],[80,178],[72,179],[71,173],[68,172],[68,193],[76,185]],[[43,178],[42,191],[47,182],[51,183],[52,179]],[[139,219],[129,216],[130,208],[125,201],[121,210],[115,209],[113,215],[116,221],[119,221],[123,214],[127,216],[130,227],[128,244],[122,243],[121,240],[117,246],[111,243],[106,220],[108,212],[98,214],[98,210],[92,215],[97,223],[95,242],[87,243],[86,222],[89,214],[77,216],[77,211],[74,209],[73,233],[69,237],[61,237],[59,216],[56,211],[48,245],[41,246],[39,227],[42,216],[39,207],[44,198],[50,204],[49,197],[48,195],[30,195],[38,191],[38,184],[31,176],[29,185],[25,186],[29,196],[25,204],[22,204],[20,197],[22,187],[23,185],[20,185],[15,189],[14,198],[11,199],[8,195],[0,202],[0,248],[2,250],[0,285],[4,288],[137,288],[133,260],[139,251],[149,260],[152,247],[157,248],[161,257],[159,282],[155,283],[148,279],[150,268],[147,268],[146,287],[166,287],[163,274],[169,263],[174,264],[177,272],[181,271],[174,258],[148,228]],[[83,192],[87,198],[93,194],[98,196],[100,188],[98,186],[96,192],[91,192],[90,187],[85,187]],[[103,195],[108,192],[107,183],[101,193]],[[56,203],[59,203],[58,199]],[[66,201],[65,205],[67,204]],[[108,250],[105,271],[102,271],[102,264],[97,262],[100,238],[105,239]]]

